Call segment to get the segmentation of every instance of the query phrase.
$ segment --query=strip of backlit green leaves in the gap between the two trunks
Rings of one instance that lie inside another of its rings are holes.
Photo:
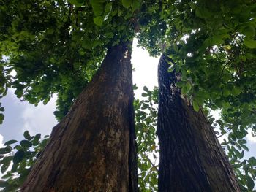
[[[140,191],[157,191],[159,144],[157,140],[158,89],[145,86],[143,100],[135,99],[135,128],[138,145],[138,182]]]

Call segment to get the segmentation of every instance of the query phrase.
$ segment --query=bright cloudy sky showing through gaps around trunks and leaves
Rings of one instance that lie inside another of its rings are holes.
[[[143,86],[153,89],[157,86],[157,64],[159,58],[153,58],[148,55],[146,50],[136,47],[134,42],[132,51],[132,65],[135,67],[133,72],[133,83],[136,83],[138,90],[135,91],[135,97],[140,97],[143,92]],[[27,101],[20,101],[16,98],[14,91],[9,90],[7,96],[1,99],[4,111],[4,123],[0,125],[0,147],[4,142],[10,139],[23,139],[23,132],[29,130],[31,135],[41,133],[50,134],[57,121],[53,115],[55,110],[56,96],[48,102],[47,105],[40,103],[37,107],[29,104]],[[217,114],[217,113],[216,113]],[[216,118],[217,115],[215,115]],[[246,137],[249,147],[249,153],[245,157],[256,156],[256,138],[251,134]]]

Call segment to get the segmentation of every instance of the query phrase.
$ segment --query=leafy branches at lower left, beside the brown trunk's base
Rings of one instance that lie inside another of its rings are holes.
[[[4,188],[3,192],[20,188],[48,141],[48,136],[41,139],[41,134],[31,136],[29,131],[25,131],[23,136],[22,141],[10,140],[0,148],[1,174],[4,174],[0,188]]]

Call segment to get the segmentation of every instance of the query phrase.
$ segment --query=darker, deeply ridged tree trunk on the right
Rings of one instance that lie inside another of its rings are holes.
[[[211,124],[181,98],[165,59],[158,69],[159,191],[240,191]]]

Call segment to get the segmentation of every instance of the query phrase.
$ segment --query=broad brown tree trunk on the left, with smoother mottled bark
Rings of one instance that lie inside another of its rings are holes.
[[[21,191],[138,191],[131,48],[108,49]]]

